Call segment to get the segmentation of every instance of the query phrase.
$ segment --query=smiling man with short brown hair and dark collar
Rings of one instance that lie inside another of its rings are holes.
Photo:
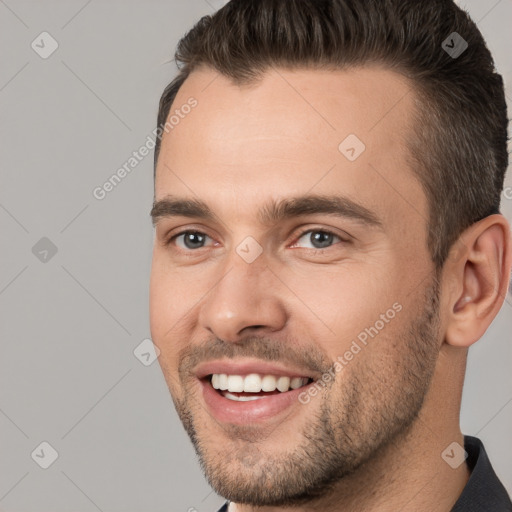
[[[233,0],[176,60],[151,332],[221,510],[512,510],[459,427],[512,264],[475,24],[448,0]]]

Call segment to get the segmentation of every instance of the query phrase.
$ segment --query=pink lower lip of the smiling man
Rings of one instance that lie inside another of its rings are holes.
[[[303,406],[299,401],[299,395],[307,391],[309,386],[313,384],[312,382],[301,388],[269,395],[258,400],[237,402],[223,397],[212,387],[210,381],[201,380],[200,383],[203,386],[204,401],[215,419],[235,425],[262,422],[279,416],[294,405],[296,407]]]

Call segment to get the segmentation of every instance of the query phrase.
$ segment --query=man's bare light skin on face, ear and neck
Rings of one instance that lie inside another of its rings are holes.
[[[210,483],[238,512],[449,510],[469,470],[441,453],[464,443],[467,348],[506,295],[507,221],[468,228],[436,281],[428,203],[407,164],[414,87],[392,71],[279,69],[238,86],[200,69],[173,109],[190,97],[197,107],[162,140],[155,200],[201,199],[215,220],[155,218],[150,321]],[[366,146],[353,162],[338,150],[349,134]],[[260,223],[269,199],[302,194],[345,196],[381,225],[319,213]],[[203,247],[166,244],[187,229],[207,235]],[[308,230],[340,238],[315,250]],[[262,249],[252,263],[236,252],[248,236]],[[334,381],[286,417],[230,425],[207,411],[193,363],[267,360],[274,349],[320,372],[396,303]],[[325,481],[307,484],[313,475]]]

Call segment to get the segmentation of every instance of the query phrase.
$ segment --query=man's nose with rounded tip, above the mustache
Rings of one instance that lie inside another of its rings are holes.
[[[237,342],[250,334],[279,331],[287,321],[280,296],[284,288],[263,256],[247,263],[234,253],[201,305],[199,323],[226,342]]]

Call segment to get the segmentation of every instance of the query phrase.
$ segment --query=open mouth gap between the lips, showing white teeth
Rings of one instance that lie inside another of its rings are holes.
[[[269,398],[302,388],[313,382],[313,379],[309,377],[288,377],[286,375],[258,373],[248,375],[214,373],[206,376],[205,380],[219,395],[235,402]]]

